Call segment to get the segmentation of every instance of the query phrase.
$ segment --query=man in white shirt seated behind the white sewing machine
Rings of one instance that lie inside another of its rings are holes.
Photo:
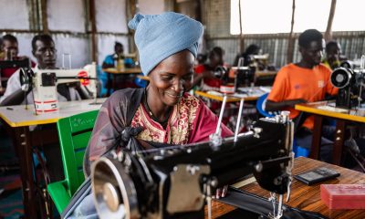
[[[55,43],[49,35],[37,35],[32,39],[32,53],[36,57],[36,69],[56,69],[57,50]],[[23,91],[20,84],[20,69],[9,78],[5,94],[0,98],[0,106],[19,104],[32,104],[33,96],[31,89]],[[25,99],[26,92],[26,99]],[[69,101],[78,99],[90,99],[88,92],[79,83],[58,84],[58,101]]]

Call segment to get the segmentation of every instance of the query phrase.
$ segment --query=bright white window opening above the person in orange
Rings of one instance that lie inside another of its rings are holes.
[[[232,35],[239,34],[238,1],[241,1],[241,19],[244,34],[290,32],[292,0],[231,0],[230,27]],[[326,31],[330,4],[331,0],[296,0],[294,32],[300,33],[312,28],[322,32]],[[360,10],[364,6],[365,1],[363,0],[337,1],[332,30],[354,30],[355,27],[364,30],[365,28],[360,27],[361,25],[359,26],[356,22],[360,21]],[[356,14],[356,16],[352,16],[353,14]]]

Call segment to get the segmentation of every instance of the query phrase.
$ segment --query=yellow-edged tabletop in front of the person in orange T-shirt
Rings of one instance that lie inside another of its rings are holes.
[[[320,101],[297,104],[295,109],[337,119],[365,122],[365,109],[346,110],[335,108],[334,106],[334,101]]]

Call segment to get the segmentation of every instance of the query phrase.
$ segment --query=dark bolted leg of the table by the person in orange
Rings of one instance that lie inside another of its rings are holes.
[[[336,121],[336,133],[335,133],[335,141],[333,143],[333,164],[339,165],[341,163],[342,156],[342,148],[343,142],[345,138],[345,120],[337,120]]]

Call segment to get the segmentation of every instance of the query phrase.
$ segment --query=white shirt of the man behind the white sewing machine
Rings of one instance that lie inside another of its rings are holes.
[[[32,68],[32,69],[33,69],[34,72],[36,72],[37,67]],[[7,97],[9,97],[11,94],[16,92],[16,90],[22,89],[21,84],[20,84],[19,72],[20,72],[19,69],[16,70],[16,72],[7,80],[7,86],[6,86],[6,89],[5,89],[5,93],[0,98],[0,103],[3,102],[3,100],[6,99]],[[71,100],[81,99],[81,97],[79,96],[78,91],[76,89],[68,88],[68,90],[69,90],[69,96],[70,96]],[[68,99],[66,99],[64,96],[60,95],[59,93],[57,93],[57,99],[60,102],[68,101]],[[23,100],[21,105],[26,104],[26,100],[27,100],[27,104],[33,104],[34,103],[32,92],[29,92],[27,94],[26,99]]]

